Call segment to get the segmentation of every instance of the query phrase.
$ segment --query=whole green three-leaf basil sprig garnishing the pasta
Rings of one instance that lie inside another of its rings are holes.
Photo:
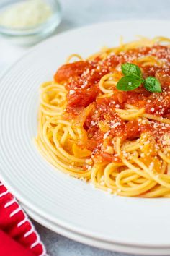
[[[149,92],[161,93],[161,84],[156,77],[143,79],[141,69],[137,65],[127,62],[122,64],[121,69],[124,77],[117,82],[118,90],[134,90],[143,83],[144,88]]]

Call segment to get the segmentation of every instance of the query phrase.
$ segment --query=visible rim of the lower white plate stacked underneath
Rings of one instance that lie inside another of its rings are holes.
[[[63,227],[58,226],[57,224],[48,221],[45,218],[42,218],[42,216],[30,210],[25,205],[22,205],[22,207],[24,208],[24,210],[27,211],[27,214],[29,214],[31,218],[33,218],[38,223],[42,224],[42,226],[45,226],[46,228],[55,231],[58,234],[66,236],[70,239],[76,240],[77,242],[81,242],[102,249],[109,249],[116,252],[133,253],[138,255],[170,255],[170,247],[135,247],[133,245],[130,246],[125,244],[116,244],[112,242],[109,243],[104,242],[102,240],[89,238],[88,236],[81,235],[68,229],[64,229]]]

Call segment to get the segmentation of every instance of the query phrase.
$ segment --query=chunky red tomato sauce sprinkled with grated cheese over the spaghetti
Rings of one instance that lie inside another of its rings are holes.
[[[117,73],[117,66],[125,62],[137,64],[137,59],[153,57],[158,64],[146,65],[138,62],[143,78],[156,77],[161,82],[162,93],[150,93],[143,85],[136,90],[124,92],[113,88],[113,95],[109,98],[99,90],[99,80],[109,72]],[[164,65],[161,64],[164,62]],[[109,145],[114,145],[114,138],[120,136],[122,140],[133,140],[143,132],[151,132],[159,139],[164,132],[170,134],[169,124],[159,124],[151,121],[150,124],[140,123],[138,120],[125,121],[115,112],[115,108],[125,108],[125,104],[145,108],[146,113],[156,116],[170,116],[170,48],[168,46],[153,46],[131,49],[119,54],[110,54],[107,59],[97,56],[93,61],[77,61],[65,64],[55,74],[55,82],[63,83],[68,90],[67,113],[75,117],[91,103],[94,108],[86,117],[84,129],[88,138],[86,148],[94,156],[105,161],[120,161],[115,153],[109,152]],[[109,153],[108,153],[108,152]]]

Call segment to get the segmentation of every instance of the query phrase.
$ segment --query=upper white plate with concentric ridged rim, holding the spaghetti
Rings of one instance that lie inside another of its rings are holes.
[[[42,218],[104,242],[169,247],[169,199],[110,197],[45,161],[32,138],[37,132],[38,89],[74,52],[82,56],[120,35],[168,36],[170,22],[109,22],[72,30],[41,43],[0,80],[1,180]]]

